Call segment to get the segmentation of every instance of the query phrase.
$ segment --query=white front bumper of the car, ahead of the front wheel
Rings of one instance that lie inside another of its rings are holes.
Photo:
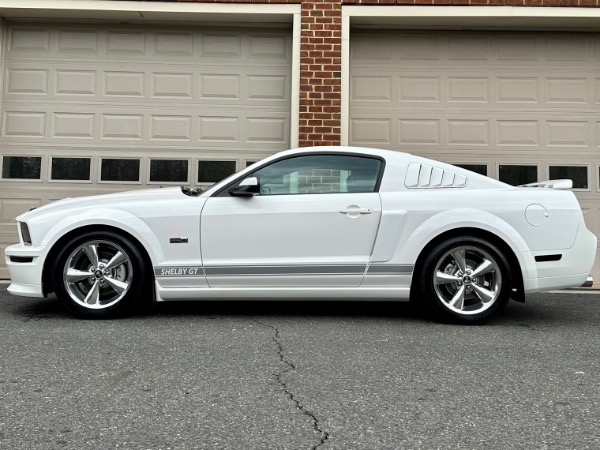
[[[42,249],[16,244],[7,247],[4,253],[11,281],[8,292],[22,297],[45,297],[42,286]]]

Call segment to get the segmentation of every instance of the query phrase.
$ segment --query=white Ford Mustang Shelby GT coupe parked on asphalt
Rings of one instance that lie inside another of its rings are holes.
[[[278,153],[204,193],[57,201],[17,218],[12,294],[76,315],[152,298],[373,299],[483,323],[512,297],[589,282],[596,237],[570,180],[511,187],[406,153]]]

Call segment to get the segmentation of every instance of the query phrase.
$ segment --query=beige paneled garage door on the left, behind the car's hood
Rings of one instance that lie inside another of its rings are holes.
[[[206,186],[289,147],[289,29],[14,23],[5,36],[0,251],[31,206]]]

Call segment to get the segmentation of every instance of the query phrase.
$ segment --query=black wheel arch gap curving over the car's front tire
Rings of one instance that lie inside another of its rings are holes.
[[[47,295],[50,292],[54,292],[54,285],[52,283],[52,265],[56,261],[56,257],[58,256],[58,253],[60,252],[60,250],[64,247],[64,245],[66,245],[66,243],[69,240],[73,239],[74,237],[76,237],[82,233],[89,233],[89,232],[94,232],[94,231],[95,232],[110,231],[112,233],[119,234],[119,235],[125,237],[126,239],[130,240],[131,243],[136,246],[136,248],[142,255],[142,258],[144,259],[144,264],[146,264],[146,266],[148,268],[148,273],[150,274],[150,276],[152,278],[154,278],[154,271],[153,271],[152,259],[150,257],[150,254],[146,250],[146,247],[144,247],[142,242],[136,236],[132,235],[131,233],[129,233],[126,230],[123,230],[122,228],[112,226],[112,225],[103,225],[103,224],[102,225],[84,225],[79,228],[69,230],[68,232],[66,232],[64,235],[62,235],[60,238],[58,238],[52,244],[50,251],[46,255],[46,258],[44,260],[44,266],[42,269],[42,289],[44,291],[44,295]],[[152,285],[154,285],[153,281],[152,281]]]

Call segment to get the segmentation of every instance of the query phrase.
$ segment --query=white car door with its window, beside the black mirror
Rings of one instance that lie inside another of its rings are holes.
[[[296,155],[209,198],[200,220],[209,285],[358,286],[381,218],[383,168],[363,155]],[[232,195],[249,181],[256,195]]]

